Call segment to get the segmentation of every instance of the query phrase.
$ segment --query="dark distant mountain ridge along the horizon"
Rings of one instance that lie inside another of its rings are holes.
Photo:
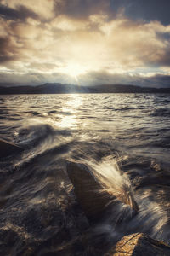
[[[72,84],[42,84],[37,86],[0,86],[0,94],[62,94],[62,93],[170,93],[170,88],[150,88],[124,84],[79,86]]]

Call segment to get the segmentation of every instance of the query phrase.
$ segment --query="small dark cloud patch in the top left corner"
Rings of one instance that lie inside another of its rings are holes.
[[[24,5],[19,5],[17,9],[8,8],[0,4],[0,16],[5,20],[26,20],[27,18],[38,19],[38,15]]]

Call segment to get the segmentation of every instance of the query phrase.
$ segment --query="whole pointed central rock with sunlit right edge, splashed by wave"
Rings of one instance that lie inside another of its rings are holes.
[[[131,208],[130,215],[127,214],[130,218],[138,212],[139,207],[130,191],[124,188],[122,193],[111,193],[110,189],[105,189],[102,183],[99,183],[98,178],[87,166],[71,162],[67,165],[67,173],[88,220],[98,221],[106,210],[113,211],[113,207],[116,209],[120,204]]]

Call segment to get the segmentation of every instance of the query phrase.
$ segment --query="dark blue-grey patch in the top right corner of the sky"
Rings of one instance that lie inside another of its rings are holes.
[[[162,24],[170,24],[169,0],[111,0],[111,9],[134,20],[159,20]]]

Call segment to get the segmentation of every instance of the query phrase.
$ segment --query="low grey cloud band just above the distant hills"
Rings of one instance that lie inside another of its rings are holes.
[[[130,75],[127,73],[107,73],[106,71],[89,72],[80,75],[78,81],[63,73],[0,73],[1,84],[78,84],[78,85],[105,85],[105,84],[132,84],[144,87],[169,88],[170,75],[156,74],[144,76],[139,74]]]

